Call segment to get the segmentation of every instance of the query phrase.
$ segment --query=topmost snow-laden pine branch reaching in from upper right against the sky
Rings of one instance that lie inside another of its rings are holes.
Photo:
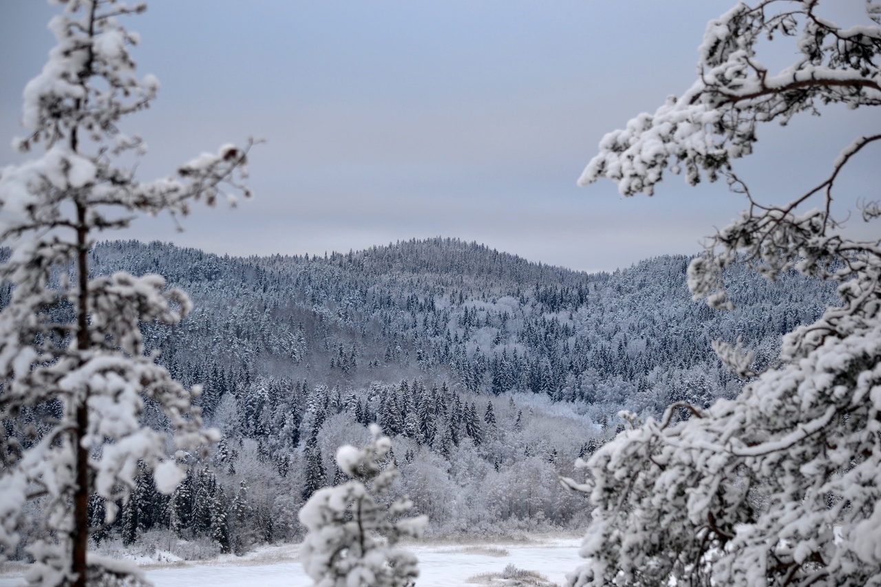
[[[603,137],[579,184],[609,177],[623,196],[651,195],[663,172],[715,181],[730,162],[752,152],[759,123],[789,118],[818,104],[881,104],[877,58],[881,26],[842,31],[814,14],[815,2],[768,0],[736,8],[707,26],[700,78],[654,115],[641,114]],[[778,5],[782,5],[778,8]],[[774,11],[777,9],[777,11]],[[777,75],[756,59],[758,42],[797,36],[799,58]]]

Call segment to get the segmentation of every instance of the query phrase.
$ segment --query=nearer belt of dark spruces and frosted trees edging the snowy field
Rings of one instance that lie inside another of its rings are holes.
[[[572,476],[575,458],[614,430],[535,400],[476,397],[422,380],[344,391],[258,378],[224,396],[209,421],[221,441],[208,455],[183,457],[189,472],[173,494],[159,494],[142,474],[130,500],[117,504],[115,522],[93,540],[181,554],[196,542],[209,556],[300,539],[300,507],[317,489],[347,479],[334,461],[337,447],[364,442],[371,422],[394,438],[389,462],[402,472],[394,494],[410,495],[431,532],[572,528],[585,520],[583,497],[557,479]],[[90,515],[101,527],[97,497]]]

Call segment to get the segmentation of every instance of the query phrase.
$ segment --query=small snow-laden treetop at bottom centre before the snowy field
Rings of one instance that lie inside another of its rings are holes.
[[[337,466],[352,479],[319,489],[300,509],[308,530],[300,556],[315,587],[407,587],[419,574],[416,557],[396,544],[421,536],[428,518],[399,519],[412,508],[406,498],[383,502],[398,472],[387,463],[389,438],[375,424],[370,432],[365,448],[337,450]]]

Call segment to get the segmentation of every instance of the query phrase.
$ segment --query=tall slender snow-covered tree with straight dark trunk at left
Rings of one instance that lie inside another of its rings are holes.
[[[49,23],[58,44],[26,85],[22,152],[45,153],[0,172],[0,239],[4,243],[4,309],[0,313],[0,556],[25,535],[41,585],[122,581],[129,569],[86,558],[88,503],[115,502],[136,487],[138,460],[156,487],[171,493],[183,476],[166,452],[167,432],[179,450],[217,440],[204,430],[184,389],[144,356],[139,323],[176,323],[187,296],[158,275],[115,273],[90,279],[95,235],[124,228],[133,213],[189,212],[191,200],[213,204],[218,188],[241,183],[246,149],[227,145],[180,167],[174,178],[140,183],[120,157],[144,151],[139,137],[117,128],[123,115],[147,108],[159,83],[138,80],[129,54],[137,34],[118,18],[144,10],[115,0],[61,0]],[[238,170],[239,173],[236,173]],[[167,417],[167,431],[140,424],[144,402]],[[39,516],[26,516],[26,502]],[[94,506],[94,504],[93,504]],[[95,507],[93,507],[93,510]],[[109,565],[109,566],[108,566]],[[87,571],[88,568],[88,571]]]

